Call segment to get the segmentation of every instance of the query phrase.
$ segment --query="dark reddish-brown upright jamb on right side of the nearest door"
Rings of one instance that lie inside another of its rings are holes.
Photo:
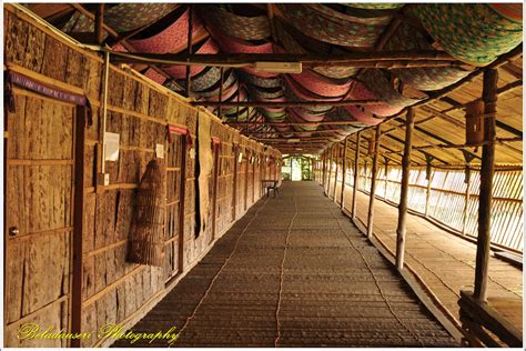
[[[73,333],[82,332],[85,109],[85,107],[77,107],[74,123],[73,281],[71,291],[71,332]],[[80,339],[71,340],[72,348],[80,348]]]

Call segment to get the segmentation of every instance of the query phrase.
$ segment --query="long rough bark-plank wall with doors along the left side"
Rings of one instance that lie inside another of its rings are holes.
[[[209,174],[210,205],[201,211],[212,219],[215,203],[215,230],[209,225],[196,235],[195,149],[189,148],[186,136],[174,133],[169,141],[166,124],[186,129],[195,141],[198,116],[210,112],[191,107],[184,98],[130,69],[111,67],[107,131],[120,134],[120,156],[115,162],[105,162],[110,184],[97,184],[102,59],[11,6],[4,7],[4,42],[8,68],[85,94],[93,107],[93,123],[85,129],[84,164],[74,162],[75,106],[14,89],[16,112],[7,116],[6,345],[64,347],[69,342],[19,340],[18,329],[24,322],[69,329],[74,315],[81,317],[82,331],[136,321],[262,195],[261,174],[271,167],[264,160],[281,154],[212,117],[211,136],[220,146],[214,149],[218,163]],[[155,157],[155,144],[164,146],[164,158],[159,161],[166,189],[165,258],[159,268],[127,262],[135,189]],[[211,144],[200,147],[213,152]],[[236,162],[240,151],[243,160]],[[250,156],[259,157],[260,163],[251,163]],[[84,200],[75,208],[73,170],[78,167],[84,170]],[[73,228],[73,211],[81,211],[82,228]],[[9,235],[13,225],[20,231],[16,237]],[[74,240],[81,240],[82,252],[73,251]],[[79,262],[73,255],[81,262],[79,272],[73,270]],[[72,297],[74,289],[81,291],[79,301]],[[108,343],[93,337],[81,344]]]

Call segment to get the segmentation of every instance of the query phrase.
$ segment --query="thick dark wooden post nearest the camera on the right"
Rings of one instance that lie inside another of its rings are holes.
[[[487,270],[489,263],[492,188],[495,171],[495,113],[497,111],[498,72],[495,69],[484,71],[483,100],[484,107],[484,140],[481,166],[481,194],[478,198],[478,235],[475,265],[475,291],[477,300],[487,300]]]

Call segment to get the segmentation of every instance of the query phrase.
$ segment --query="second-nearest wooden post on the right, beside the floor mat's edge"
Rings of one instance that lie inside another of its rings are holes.
[[[415,124],[415,111],[413,108],[407,110],[405,119],[405,147],[402,158],[402,182],[398,203],[398,225],[396,228],[396,268],[404,268],[405,251],[405,221],[407,217],[407,190],[409,189],[409,168],[411,168],[411,149],[413,142],[413,127]]]

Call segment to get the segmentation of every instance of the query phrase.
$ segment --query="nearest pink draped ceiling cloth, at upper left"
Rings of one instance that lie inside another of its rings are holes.
[[[198,16],[193,16],[192,38],[203,28]],[[189,10],[162,32],[145,39],[129,40],[139,52],[166,53],[186,46],[189,31]]]

